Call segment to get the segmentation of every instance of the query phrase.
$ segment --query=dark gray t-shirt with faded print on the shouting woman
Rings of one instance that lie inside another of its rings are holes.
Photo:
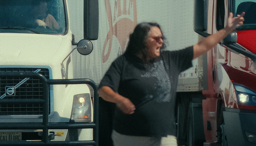
[[[120,134],[164,137],[176,135],[175,101],[178,75],[192,66],[193,46],[162,51],[148,64],[136,56],[118,57],[103,77],[99,88],[108,86],[135,105],[133,114],[119,108],[113,128]]]

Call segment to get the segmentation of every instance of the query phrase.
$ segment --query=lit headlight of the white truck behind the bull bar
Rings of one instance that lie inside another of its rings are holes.
[[[89,93],[74,95],[71,121],[91,122],[91,97]]]

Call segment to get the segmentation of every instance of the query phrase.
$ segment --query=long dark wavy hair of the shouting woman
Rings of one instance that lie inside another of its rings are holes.
[[[152,22],[142,22],[139,23],[132,34],[130,34],[129,37],[129,42],[127,49],[125,51],[125,54],[129,55],[137,55],[139,53],[142,53],[142,60],[144,62],[147,62],[147,48],[146,48],[146,41],[149,35],[149,31],[151,27],[158,27],[160,30],[160,26],[157,23],[152,23]],[[161,30],[162,32],[162,30]],[[163,36],[163,32],[162,32]],[[165,44],[163,43],[161,49],[165,47]]]

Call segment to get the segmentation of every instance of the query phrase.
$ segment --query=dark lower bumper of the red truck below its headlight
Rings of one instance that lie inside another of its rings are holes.
[[[226,108],[224,129],[230,146],[256,146],[256,113]]]

